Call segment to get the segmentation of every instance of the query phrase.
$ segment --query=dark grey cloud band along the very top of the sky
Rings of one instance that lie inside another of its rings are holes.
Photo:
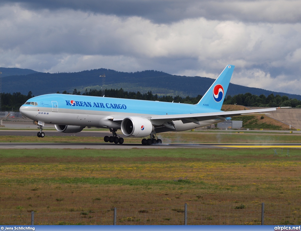
[[[30,9],[73,9],[117,16],[139,16],[156,23],[188,18],[244,22],[297,23],[301,21],[299,0],[4,0]]]

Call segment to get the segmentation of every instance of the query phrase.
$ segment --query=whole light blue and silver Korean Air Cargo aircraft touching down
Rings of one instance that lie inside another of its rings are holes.
[[[48,94],[29,99],[20,112],[39,126],[38,137],[45,124],[54,124],[59,132],[76,133],[86,126],[108,128],[112,136],[105,142],[123,143],[118,129],[127,137],[148,137],[143,145],[160,144],[156,134],[166,131],[186,131],[230,120],[232,116],[274,111],[276,108],[221,111],[234,70],[227,65],[203,98],[195,105],[119,99],[84,95]]]

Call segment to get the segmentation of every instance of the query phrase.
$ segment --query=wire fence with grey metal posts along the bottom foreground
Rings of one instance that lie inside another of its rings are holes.
[[[300,225],[300,204],[185,204],[158,208],[2,214],[0,225]]]

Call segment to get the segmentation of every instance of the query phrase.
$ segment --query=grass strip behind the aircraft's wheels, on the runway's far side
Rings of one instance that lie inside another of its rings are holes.
[[[48,136],[45,132],[44,138],[37,136],[1,136],[0,142],[38,142],[38,143],[77,143],[77,142],[104,142],[103,137],[77,137],[77,136]],[[186,131],[165,132],[158,134],[163,143],[301,143],[299,133],[277,133],[277,132],[247,132],[237,131]],[[141,143],[142,138],[125,137],[125,143]]]

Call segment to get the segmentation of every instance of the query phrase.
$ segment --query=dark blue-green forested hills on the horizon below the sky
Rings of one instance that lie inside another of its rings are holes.
[[[195,97],[204,95],[215,79],[206,77],[176,76],[168,73],[145,70],[141,72],[119,72],[110,69],[85,70],[75,73],[30,73],[27,75],[6,76],[2,71],[2,92],[21,92],[33,95],[43,95],[57,91],[73,91],[74,88],[83,89],[97,88],[102,85],[100,75],[105,74],[104,88],[123,88],[126,91],[140,91],[146,93],[152,91],[154,94],[180,95]],[[287,95],[288,98],[301,100],[301,95],[290,95],[287,93],[267,91],[260,88],[250,88],[230,83],[227,95],[245,94],[250,92],[253,95]]]

